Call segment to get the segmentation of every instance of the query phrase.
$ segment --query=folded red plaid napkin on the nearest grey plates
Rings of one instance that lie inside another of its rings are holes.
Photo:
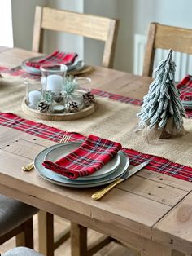
[[[93,174],[120,150],[121,144],[89,135],[84,143],[58,161],[45,160],[42,165],[70,179]]]

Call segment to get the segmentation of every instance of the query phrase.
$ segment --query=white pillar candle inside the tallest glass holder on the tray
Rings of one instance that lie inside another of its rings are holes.
[[[63,87],[63,77],[59,75],[50,75],[46,77],[46,90],[59,92]]]

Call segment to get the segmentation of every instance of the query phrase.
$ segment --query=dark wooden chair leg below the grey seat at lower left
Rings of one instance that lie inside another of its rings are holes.
[[[24,231],[15,236],[16,246],[33,249],[33,218],[29,218],[22,226]]]

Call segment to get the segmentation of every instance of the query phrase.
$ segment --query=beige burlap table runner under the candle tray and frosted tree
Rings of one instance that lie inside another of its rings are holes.
[[[107,98],[98,98],[95,113],[74,121],[43,121],[30,117],[21,110],[25,86],[20,77],[2,78],[0,82],[0,111],[54,126],[61,130],[76,131],[83,135],[94,134],[122,143],[124,148],[167,158],[181,165],[192,167],[192,119],[185,119],[188,133],[184,136],[161,139],[159,143],[147,143],[142,133],[136,134],[136,113],[140,107]]]

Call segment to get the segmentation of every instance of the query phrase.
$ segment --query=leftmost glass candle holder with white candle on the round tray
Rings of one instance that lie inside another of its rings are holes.
[[[24,85],[26,86],[26,104],[29,108],[36,109],[42,99],[41,81],[39,78],[25,78]]]

